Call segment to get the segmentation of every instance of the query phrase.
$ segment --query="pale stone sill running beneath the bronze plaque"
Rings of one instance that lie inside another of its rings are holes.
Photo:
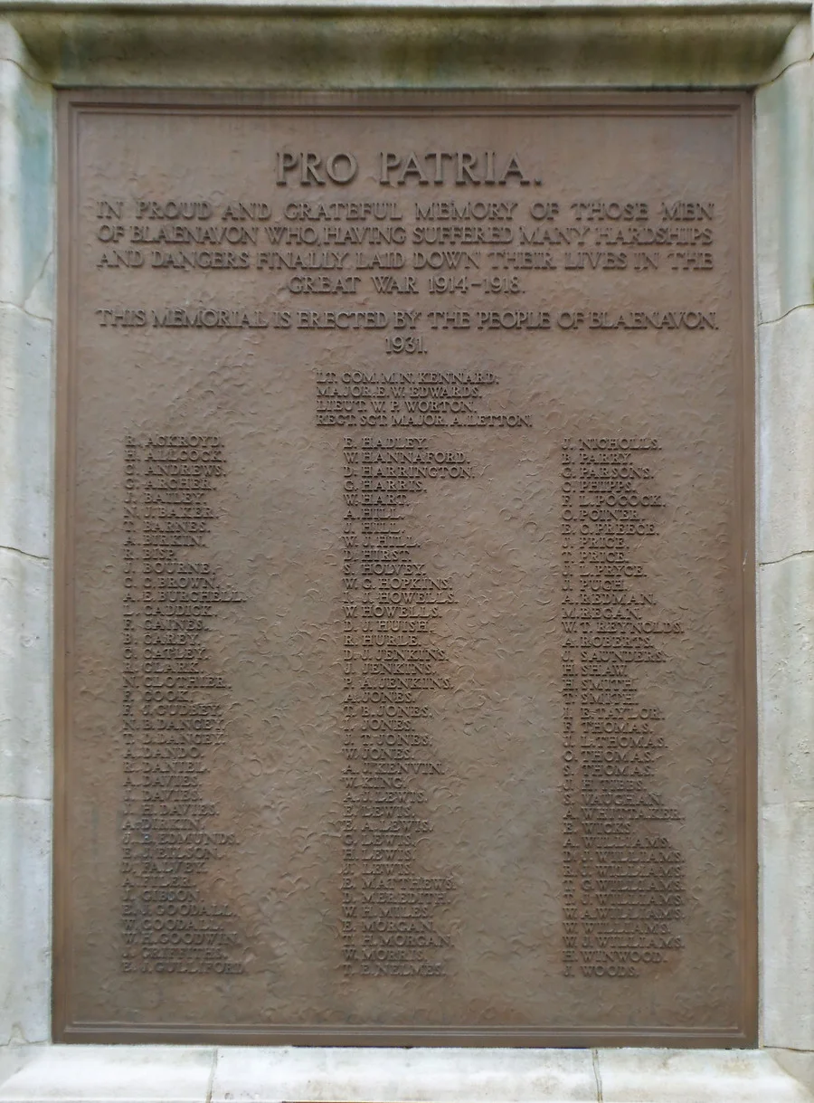
[[[33,1047],[17,1103],[811,1103],[761,1050]]]

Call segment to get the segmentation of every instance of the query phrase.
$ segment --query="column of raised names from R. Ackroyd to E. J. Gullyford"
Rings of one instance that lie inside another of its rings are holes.
[[[231,688],[207,638],[243,600],[204,550],[224,446],[128,435],[124,452],[121,968],[240,973],[234,911],[202,886],[237,843],[204,784]]]

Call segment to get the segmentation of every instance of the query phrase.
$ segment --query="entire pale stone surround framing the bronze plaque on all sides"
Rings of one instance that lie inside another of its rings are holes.
[[[50,1043],[54,85],[758,89],[761,1049]],[[797,0],[0,0],[0,1101],[814,1097],[813,181]]]

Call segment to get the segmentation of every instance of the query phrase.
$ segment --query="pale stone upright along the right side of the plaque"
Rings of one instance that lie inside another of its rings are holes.
[[[761,1039],[814,1086],[814,63],[756,109]]]

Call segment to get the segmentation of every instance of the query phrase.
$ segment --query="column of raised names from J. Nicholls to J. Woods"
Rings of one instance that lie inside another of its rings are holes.
[[[561,449],[566,976],[641,976],[683,949],[682,816],[657,780],[668,732],[638,677],[684,633],[647,581],[660,452],[647,437]]]

